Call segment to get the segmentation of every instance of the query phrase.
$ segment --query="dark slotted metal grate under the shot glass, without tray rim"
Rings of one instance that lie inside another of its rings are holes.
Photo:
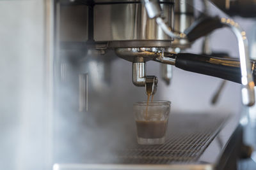
[[[196,162],[218,134],[227,117],[220,115],[171,115],[164,145],[137,145],[118,150],[120,164],[169,164]]]

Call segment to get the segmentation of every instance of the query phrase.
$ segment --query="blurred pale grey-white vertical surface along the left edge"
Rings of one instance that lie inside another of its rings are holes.
[[[0,1],[0,169],[44,164],[44,1]]]

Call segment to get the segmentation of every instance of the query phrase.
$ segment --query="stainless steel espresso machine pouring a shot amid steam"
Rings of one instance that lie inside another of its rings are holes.
[[[53,169],[236,169],[237,159],[250,157],[241,112],[255,103],[255,61],[239,23],[208,9],[254,17],[239,3],[54,1]],[[223,28],[234,33],[238,58],[189,52],[198,39]],[[187,73],[207,76],[189,79]],[[215,91],[204,89],[204,78],[235,82],[227,103],[212,106]],[[193,80],[201,90],[192,89]],[[172,101],[164,145],[136,143],[132,104],[145,100],[145,91]]]

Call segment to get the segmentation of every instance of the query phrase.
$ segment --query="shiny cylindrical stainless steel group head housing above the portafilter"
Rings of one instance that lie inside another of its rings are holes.
[[[165,22],[173,28],[173,1],[160,3]],[[93,35],[112,48],[170,46],[173,40],[148,17],[139,0],[95,1]]]

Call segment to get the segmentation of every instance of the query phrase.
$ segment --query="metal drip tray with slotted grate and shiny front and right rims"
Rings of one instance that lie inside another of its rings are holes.
[[[214,169],[237,129],[235,120],[238,118],[212,113],[172,114],[163,145],[138,145],[134,139],[134,143],[117,148],[115,156],[104,162],[55,164],[54,170]]]

